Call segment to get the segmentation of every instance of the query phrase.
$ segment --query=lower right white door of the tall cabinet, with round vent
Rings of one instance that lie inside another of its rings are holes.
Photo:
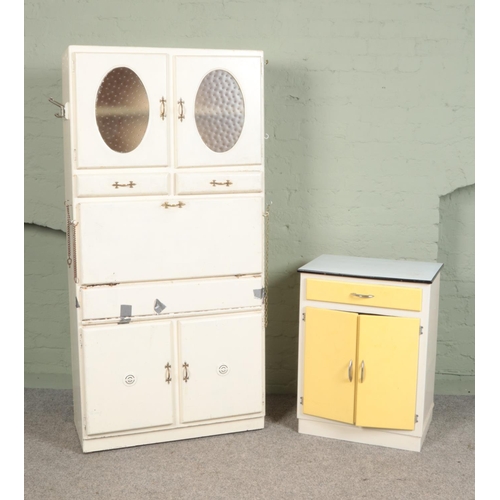
[[[181,320],[182,422],[263,410],[262,313]]]

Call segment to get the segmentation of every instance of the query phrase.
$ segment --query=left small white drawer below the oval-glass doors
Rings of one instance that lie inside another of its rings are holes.
[[[76,196],[141,196],[169,194],[168,174],[80,174],[75,176]]]

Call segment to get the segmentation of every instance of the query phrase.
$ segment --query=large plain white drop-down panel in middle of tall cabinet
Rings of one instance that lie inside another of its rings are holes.
[[[263,221],[260,196],[82,203],[80,282],[259,274]]]

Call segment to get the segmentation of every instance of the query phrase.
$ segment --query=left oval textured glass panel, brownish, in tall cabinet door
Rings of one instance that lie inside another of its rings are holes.
[[[102,81],[95,102],[97,126],[104,142],[118,153],[133,151],[149,121],[146,89],[129,68],[115,68]]]

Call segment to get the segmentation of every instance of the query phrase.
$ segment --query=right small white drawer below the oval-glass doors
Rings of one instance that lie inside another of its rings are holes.
[[[176,194],[259,193],[262,172],[181,173],[175,178]]]

